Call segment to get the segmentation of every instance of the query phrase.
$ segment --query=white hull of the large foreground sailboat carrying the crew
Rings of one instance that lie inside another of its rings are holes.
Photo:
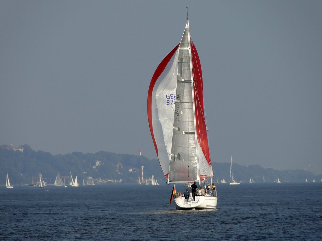
[[[216,209],[217,197],[196,196],[195,201],[190,196],[189,200],[184,197],[175,198],[176,209]]]

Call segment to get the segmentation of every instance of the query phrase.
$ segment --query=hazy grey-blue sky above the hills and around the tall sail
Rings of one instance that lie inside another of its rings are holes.
[[[322,171],[322,1],[0,0],[0,145],[156,159],[151,77],[189,7],[213,162]]]

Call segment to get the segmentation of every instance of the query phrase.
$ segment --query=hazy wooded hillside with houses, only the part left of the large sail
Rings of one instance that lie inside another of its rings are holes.
[[[34,151],[28,145],[23,145],[24,151],[14,151],[0,147],[0,184],[5,184],[8,171],[12,184],[37,182],[39,173],[47,183],[53,183],[59,172],[68,178],[70,172],[73,178],[81,183],[88,176],[93,179],[120,180],[122,183],[137,182],[141,177],[141,166],[144,166],[144,178],[151,178],[154,174],[159,183],[165,181],[157,160],[149,160],[144,156],[115,154],[100,151],[95,154],[73,152],[66,155],[52,155],[49,152]],[[68,179],[69,180],[69,179]]]

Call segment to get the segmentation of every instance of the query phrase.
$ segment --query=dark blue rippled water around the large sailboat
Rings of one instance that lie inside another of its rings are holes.
[[[0,186],[0,240],[322,240],[322,183],[217,190],[216,210],[175,210],[168,185]]]

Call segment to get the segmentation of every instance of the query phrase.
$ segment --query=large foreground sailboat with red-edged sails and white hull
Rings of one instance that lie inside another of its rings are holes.
[[[189,19],[180,43],[152,76],[147,98],[148,121],[167,183],[204,182],[213,177],[204,115],[203,79]],[[177,209],[215,209],[217,197],[195,200],[173,195]]]

